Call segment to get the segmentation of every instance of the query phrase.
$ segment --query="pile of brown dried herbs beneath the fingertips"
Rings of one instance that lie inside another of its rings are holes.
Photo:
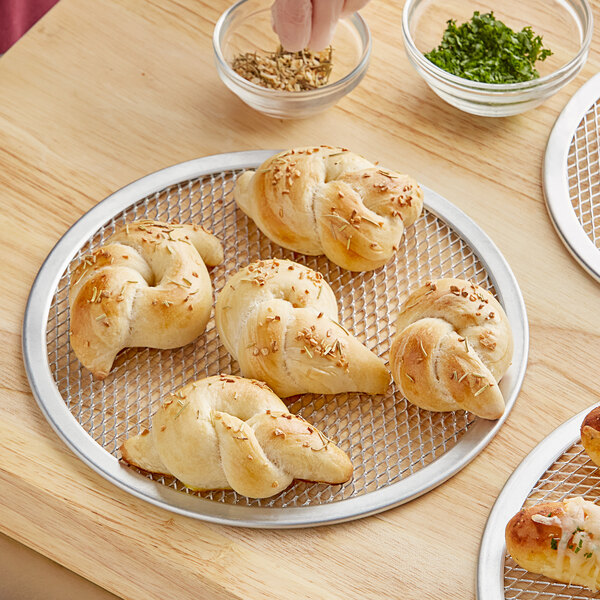
[[[333,49],[322,52],[288,52],[282,46],[275,52],[246,52],[233,59],[232,69],[244,79],[273,90],[303,92],[329,82]]]

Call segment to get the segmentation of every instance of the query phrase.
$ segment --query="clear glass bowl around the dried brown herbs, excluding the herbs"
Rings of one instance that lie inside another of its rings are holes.
[[[248,106],[280,119],[302,119],[333,106],[364,77],[371,54],[371,34],[359,14],[342,19],[331,43],[329,83],[314,90],[286,92],[264,88],[238,75],[231,63],[245,52],[264,54],[279,46],[271,26],[273,0],[240,0],[215,25],[213,49],[223,83]]]

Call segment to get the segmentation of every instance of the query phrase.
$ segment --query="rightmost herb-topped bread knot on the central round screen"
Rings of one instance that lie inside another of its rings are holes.
[[[409,402],[426,410],[468,410],[498,419],[498,381],[513,352],[510,324],[498,301],[462,279],[430,281],[400,310],[390,369]]]

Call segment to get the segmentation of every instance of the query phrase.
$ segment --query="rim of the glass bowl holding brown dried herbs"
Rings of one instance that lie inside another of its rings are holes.
[[[219,20],[215,25],[212,38],[213,50],[217,59],[218,66],[223,70],[227,77],[230,80],[232,80],[238,87],[244,88],[245,90],[254,94],[267,96],[269,98],[305,100],[333,94],[336,91],[346,87],[346,85],[352,82],[352,80],[354,80],[365,70],[371,55],[371,31],[369,30],[369,26],[367,25],[366,21],[360,16],[359,13],[356,12],[350,15],[350,17],[348,17],[348,20],[351,21],[356,27],[356,29],[359,31],[359,33],[362,34],[361,37],[364,38],[365,43],[363,45],[362,54],[358,63],[349,73],[344,75],[344,77],[342,77],[341,79],[338,79],[333,83],[328,83],[327,85],[318,87],[314,90],[305,90],[300,92],[289,92],[287,90],[273,90],[270,88],[264,88],[260,85],[257,85],[256,83],[252,83],[251,81],[244,79],[241,75],[238,75],[229,66],[229,63],[225,60],[221,49],[221,37],[224,35],[225,22],[228,20],[228,18],[243,4],[249,1],[251,0],[238,0],[238,2],[230,6],[223,14],[221,14]]]

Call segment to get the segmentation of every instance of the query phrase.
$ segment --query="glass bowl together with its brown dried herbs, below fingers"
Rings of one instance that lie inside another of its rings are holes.
[[[279,119],[304,119],[335,105],[363,79],[371,35],[355,13],[337,24],[331,47],[288,52],[273,31],[273,0],[240,0],[215,25],[223,83],[248,106]]]

